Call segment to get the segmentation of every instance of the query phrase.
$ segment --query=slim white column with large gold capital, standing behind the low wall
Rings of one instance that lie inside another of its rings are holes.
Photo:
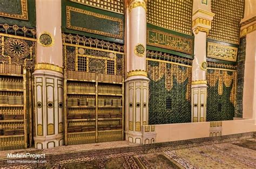
[[[194,60],[192,63],[191,121],[206,121],[207,81],[206,81],[206,37],[211,29],[214,13],[211,1],[203,3],[194,0],[192,30],[194,33]]]

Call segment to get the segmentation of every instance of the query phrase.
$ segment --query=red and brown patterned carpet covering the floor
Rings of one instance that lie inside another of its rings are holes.
[[[109,151],[100,154],[92,152],[91,154],[87,153],[87,155],[76,153],[75,156],[73,154],[62,154],[58,157],[53,157],[44,167],[76,167],[76,169],[256,168],[256,138],[240,139],[219,144],[204,144],[175,150],[170,149],[170,147],[157,147],[150,149],[147,153],[142,149],[138,150],[136,147],[133,147],[133,149],[134,151],[129,150],[119,153],[109,153]],[[23,165],[23,167],[32,166]]]

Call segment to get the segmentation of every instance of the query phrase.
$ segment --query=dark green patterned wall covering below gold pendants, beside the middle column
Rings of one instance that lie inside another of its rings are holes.
[[[148,61],[148,64],[157,66],[159,62]],[[172,64],[166,64],[167,68],[171,66]],[[179,68],[183,71],[187,69],[183,66]],[[159,81],[149,78],[149,124],[191,122],[191,101],[186,98],[188,78],[178,83],[176,76],[173,75],[171,90],[166,89],[165,78],[165,75]]]

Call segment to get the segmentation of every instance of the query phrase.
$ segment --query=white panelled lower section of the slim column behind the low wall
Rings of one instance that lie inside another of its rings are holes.
[[[206,99],[206,84],[197,84],[191,86],[192,122],[206,122]]]

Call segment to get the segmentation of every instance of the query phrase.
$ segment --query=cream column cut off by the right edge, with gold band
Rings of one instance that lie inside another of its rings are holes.
[[[256,120],[256,1],[245,1],[240,30],[240,37],[246,37],[242,117]]]

